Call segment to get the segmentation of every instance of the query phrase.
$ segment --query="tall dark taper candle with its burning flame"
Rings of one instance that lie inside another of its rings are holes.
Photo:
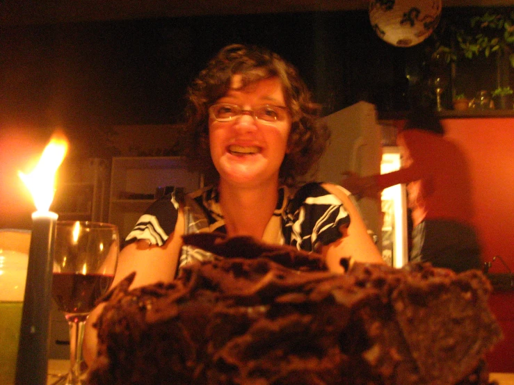
[[[17,385],[47,383],[48,331],[51,305],[51,279],[54,263],[56,213],[49,211],[54,200],[55,174],[67,151],[65,138],[52,138],[30,174],[19,172],[31,191],[37,211],[27,266],[22,325],[16,364]]]

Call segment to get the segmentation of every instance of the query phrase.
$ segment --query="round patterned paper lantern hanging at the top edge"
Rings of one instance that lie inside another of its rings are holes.
[[[369,20],[376,34],[396,47],[428,38],[441,16],[442,0],[371,0]]]

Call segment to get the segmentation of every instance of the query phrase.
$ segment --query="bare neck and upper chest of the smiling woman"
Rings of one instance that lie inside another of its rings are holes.
[[[277,206],[278,181],[256,188],[236,188],[220,181],[218,191],[227,235],[262,239]]]

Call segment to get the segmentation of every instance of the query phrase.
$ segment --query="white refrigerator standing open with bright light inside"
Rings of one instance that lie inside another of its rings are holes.
[[[359,101],[323,120],[331,131],[330,142],[314,179],[340,184],[346,171],[366,177],[400,167],[397,147],[383,147],[374,104]],[[405,264],[408,261],[405,186],[385,189],[382,200],[369,197],[353,197],[353,200],[385,261],[394,267]]]

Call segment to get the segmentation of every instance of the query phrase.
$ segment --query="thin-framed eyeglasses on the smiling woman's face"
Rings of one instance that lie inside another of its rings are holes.
[[[270,104],[255,106],[251,110],[245,110],[237,104],[230,103],[218,103],[209,107],[209,115],[218,122],[230,122],[243,114],[248,114],[258,121],[276,123],[286,120],[289,110],[287,107],[271,106]]]

